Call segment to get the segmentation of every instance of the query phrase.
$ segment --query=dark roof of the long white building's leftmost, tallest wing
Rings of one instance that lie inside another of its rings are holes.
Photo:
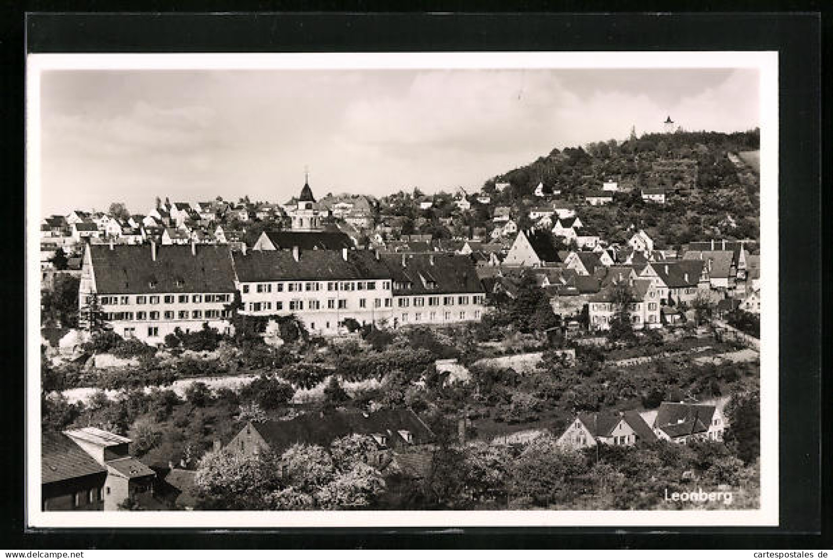
[[[196,252],[196,256],[192,253]],[[223,245],[90,245],[98,293],[230,293],[234,269]],[[150,287],[154,282],[156,287]]]

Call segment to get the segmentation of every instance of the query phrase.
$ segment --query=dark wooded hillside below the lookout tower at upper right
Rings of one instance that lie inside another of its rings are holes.
[[[543,182],[545,192],[561,191],[552,200],[574,205],[588,230],[608,242],[626,242],[631,226],[645,228],[659,247],[716,236],[757,239],[758,182],[739,177],[727,154],[743,152],[744,160],[751,163],[746,152],[757,150],[759,143],[756,129],[646,134],[621,143],[610,140],[554,149],[535,162],[492,177],[483,191],[491,194],[492,207],[516,207],[521,227],[529,225],[522,216],[528,205],[538,203],[532,192]],[[586,195],[599,191],[609,179],[630,192],[617,192],[608,206],[588,205]],[[496,182],[509,186],[498,192]],[[640,191],[646,187],[666,188],[667,202],[643,202]]]

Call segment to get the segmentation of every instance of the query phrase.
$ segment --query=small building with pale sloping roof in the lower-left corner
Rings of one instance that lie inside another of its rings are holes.
[[[103,510],[117,511],[125,500],[152,494],[156,473],[130,456],[131,440],[96,427],[63,432],[89,457],[107,469]]]

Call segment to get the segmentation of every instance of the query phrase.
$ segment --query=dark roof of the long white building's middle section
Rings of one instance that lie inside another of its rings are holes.
[[[280,282],[285,280],[351,280],[390,277],[384,262],[373,252],[341,250],[252,251],[233,253],[237,279],[241,282]]]

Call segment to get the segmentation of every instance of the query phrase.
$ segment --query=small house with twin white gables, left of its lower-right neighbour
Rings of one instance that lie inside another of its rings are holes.
[[[576,449],[597,444],[631,446],[637,442],[657,440],[651,427],[639,412],[584,412],[579,413],[558,444]]]

